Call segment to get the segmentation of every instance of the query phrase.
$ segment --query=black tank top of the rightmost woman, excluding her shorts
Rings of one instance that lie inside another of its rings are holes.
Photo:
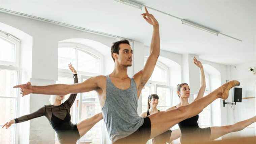
[[[175,106],[177,107],[177,106]],[[198,126],[198,121],[199,116],[196,115],[194,117],[191,117],[189,119],[186,119],[184,121],[181,121],[180,123],[178,123],[181,133],[182,134],[186,134],[186,133],[192,133],[194,132],[197,128],[199,128]]]

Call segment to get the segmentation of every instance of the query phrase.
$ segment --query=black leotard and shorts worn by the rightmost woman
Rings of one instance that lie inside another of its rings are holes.
[[[197,123],[198,119],[199,116],[196,115],[178,124],[181,130],[181,143],[203,142],[210,140],[211,128],[200,128]]]

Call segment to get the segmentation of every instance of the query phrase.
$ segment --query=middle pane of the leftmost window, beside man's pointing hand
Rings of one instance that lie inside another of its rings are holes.
[[[17,97],[12,88],[17,84],[17,71],[0,70],[0,96]]]

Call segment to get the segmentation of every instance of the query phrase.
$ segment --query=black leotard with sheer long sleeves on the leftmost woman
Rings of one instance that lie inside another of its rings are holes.
[[[77,74],[74,74],[74,83],[77,83]],[[70,94],[61,105],[45,105],[34,113],[14,119],[15,123],[25,122],[34,118],[45,116],[58,135],[61,144],[75,144],[80,138],[76,124],[71,123],[70,108],[75,101],[77,93]]]

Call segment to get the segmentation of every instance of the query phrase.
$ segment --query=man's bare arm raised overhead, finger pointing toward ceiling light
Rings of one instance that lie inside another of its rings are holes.
[[[151,77],[154,68],[156,66],[157,59],[160,54],[160,36],[159,36],[159,24],[155,17],[150,14],[145,7],[146,13],[143,13],[143,18],[151,25],[153,25],[153,35],[150,45],[150,55],[144,66],[144,68],[134,75],[134,79],[138,85],[138,91],[140,91]],[[138,93],[139,96],[139,93]]]

